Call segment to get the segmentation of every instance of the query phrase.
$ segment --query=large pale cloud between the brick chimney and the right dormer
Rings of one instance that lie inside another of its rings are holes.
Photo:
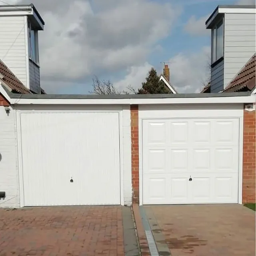
[[[170,82],[179,93],[200,92],[209,77],[210,47],[170,58]]]

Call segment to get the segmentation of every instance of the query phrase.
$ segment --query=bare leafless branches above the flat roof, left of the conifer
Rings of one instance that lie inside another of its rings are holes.
[[[92,94],[98,95],[115,95],[115,94],[137,94],[138,91],[131,85],[127,86],[127,90],[120,91],[110,80],[100,80],[97,76],[92,79]]]

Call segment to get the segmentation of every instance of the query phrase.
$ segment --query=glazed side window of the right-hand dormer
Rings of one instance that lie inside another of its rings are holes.
[[[212,28],[212,63],[223,57],[223,21]]]

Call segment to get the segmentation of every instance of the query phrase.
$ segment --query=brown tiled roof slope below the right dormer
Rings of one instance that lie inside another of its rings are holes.
[[[248,60],[239,73],[233,78],[223,92],[251,91],[255,87],[255,54]]]

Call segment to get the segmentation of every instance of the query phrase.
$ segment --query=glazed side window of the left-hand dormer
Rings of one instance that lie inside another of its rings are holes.
[[[28,42],[28,53],[29,58],[34,63],[39,65],[39,58],[38,58],[38,31],[35,30],[32,24],[28,23],[28,35],[29,35],[29,42]]]

